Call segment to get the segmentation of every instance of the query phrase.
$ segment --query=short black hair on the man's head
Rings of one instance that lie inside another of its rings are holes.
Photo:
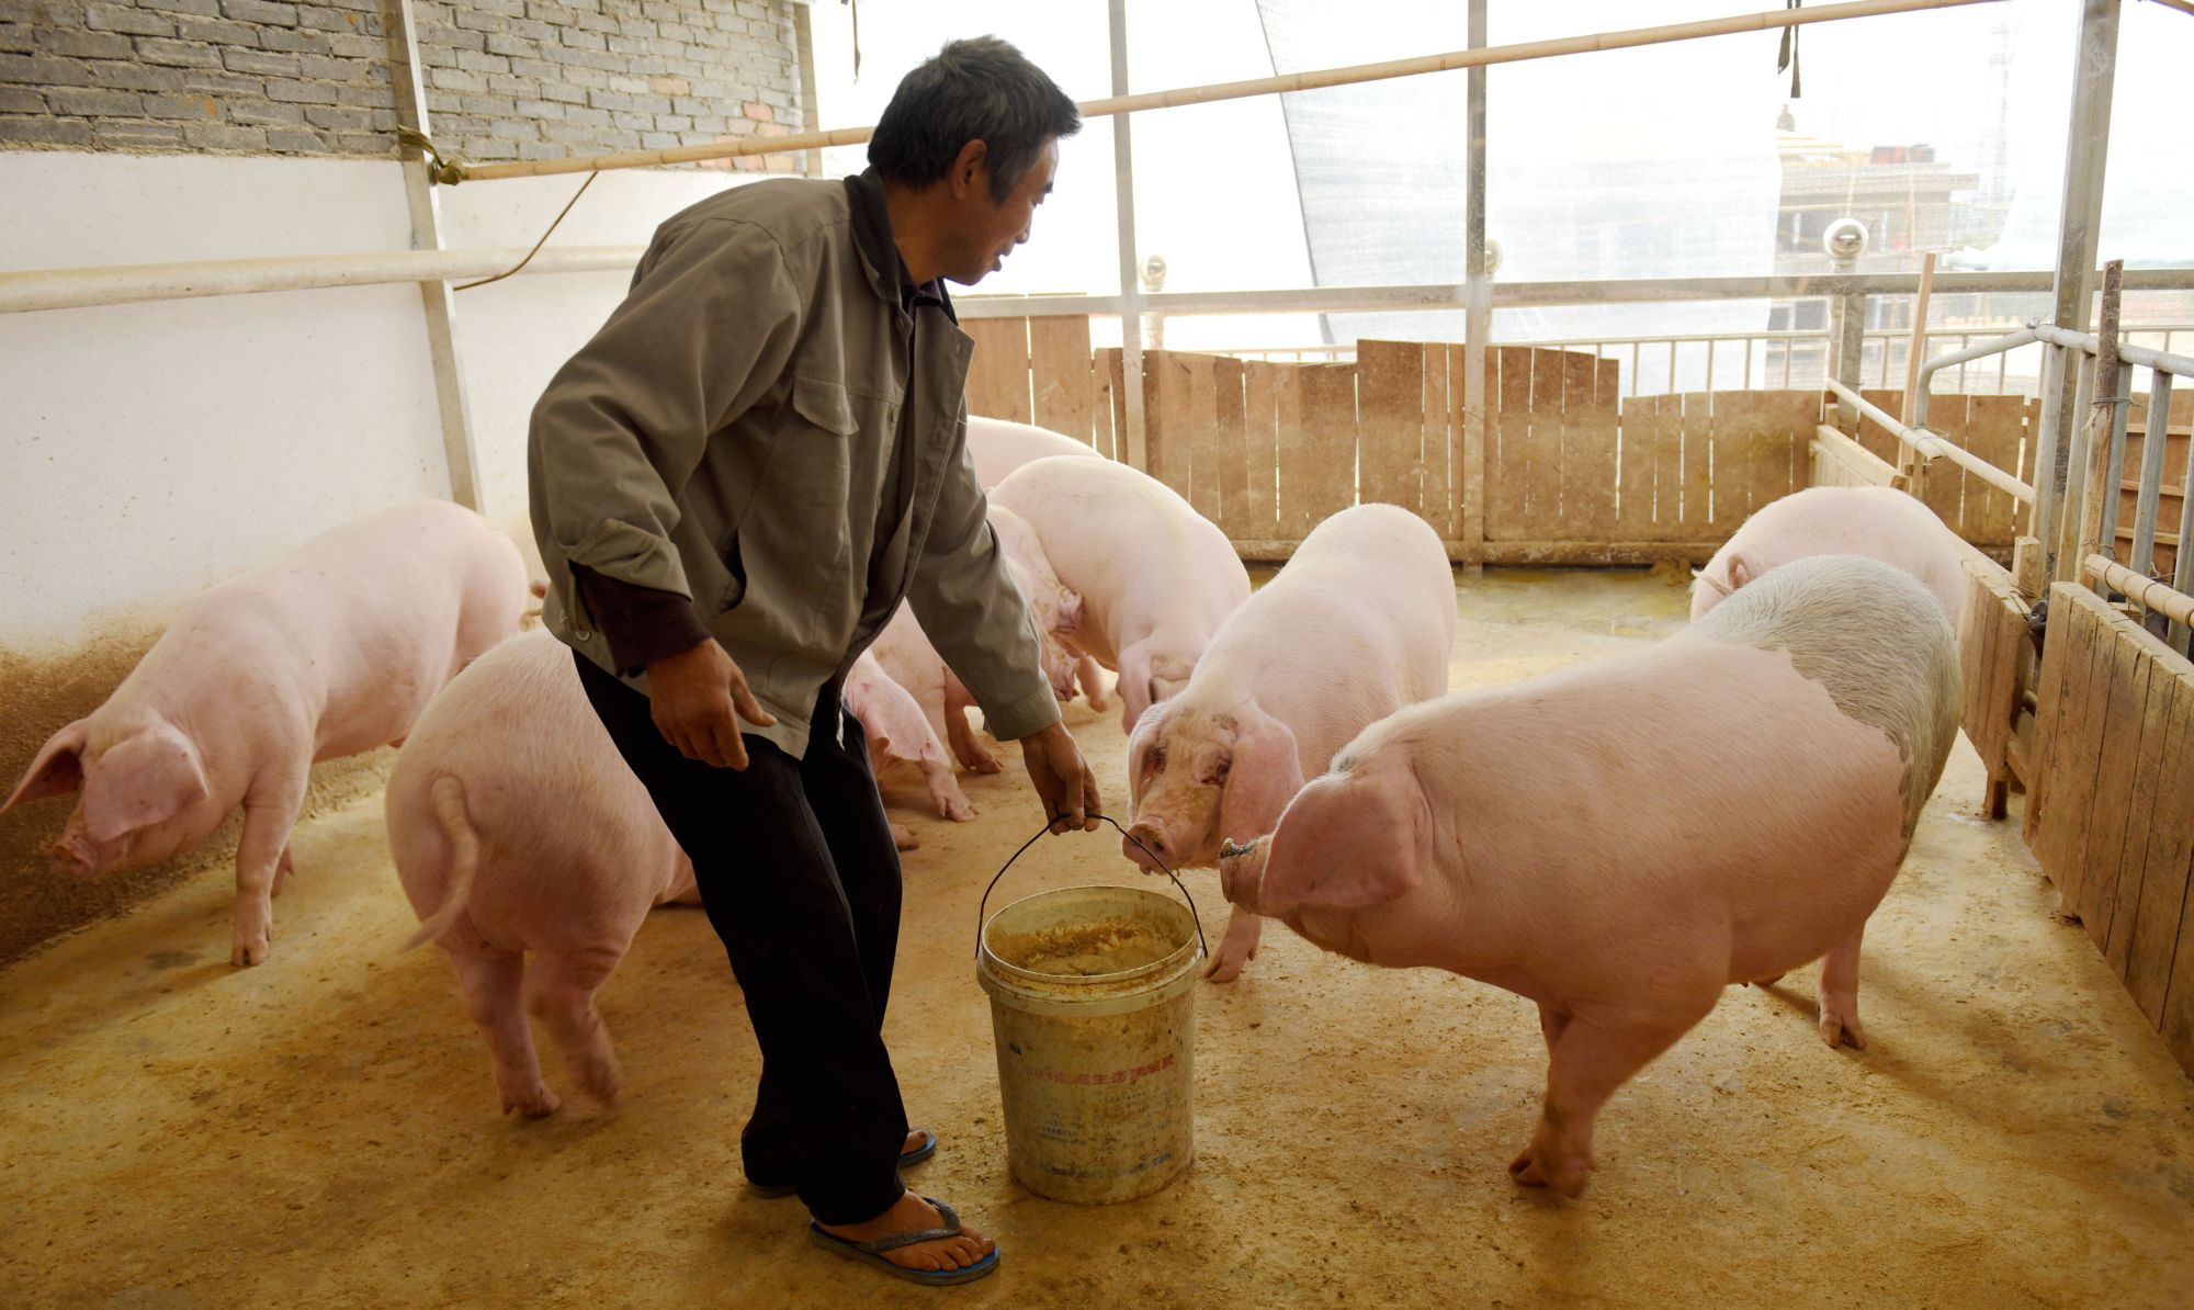
[[[950,42],[900,81],[869,138],[869,165],[904,187],[952,171],[970,140],[987,149],[989,197],[1005,200],[1044,140],[1082,129],[1082,110],[1029,57],[998,37]]]

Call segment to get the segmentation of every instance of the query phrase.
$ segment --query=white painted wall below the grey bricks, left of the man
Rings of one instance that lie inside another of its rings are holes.
[[[643,246],[717,171],[606,173],[553,244]],[[737,180],[748,180],[739,176]],[[443,193],[452,248],[531,246],[577,180]],[[0,151],[0,270],[404,250],[386,160]],[[625,274],[459,296],[485,505],[524,520],[524,424]],[[353,513],[445,496],[419,292],[274,292],[0,316],[0,645],[68,647]]]

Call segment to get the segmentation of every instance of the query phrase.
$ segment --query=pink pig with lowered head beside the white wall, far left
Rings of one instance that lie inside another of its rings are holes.
[[[259,963],[312,766],[402,742],[524,606],[518,546],[478,513],[366,513],[182,606],[0,810],[81,786],[55,860],[90,876],[195,847],[244,805],[230,963]]]

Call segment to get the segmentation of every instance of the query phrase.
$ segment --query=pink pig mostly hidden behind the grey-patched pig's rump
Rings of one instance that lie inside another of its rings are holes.
[[[1768,568],[1808,555],[1865,555],[1913,575],[1957,623],[1966,603],[1959,540],[1935,511],[1891,487],[1808,487],[1744,520],[1692,584],[1692,619]]]

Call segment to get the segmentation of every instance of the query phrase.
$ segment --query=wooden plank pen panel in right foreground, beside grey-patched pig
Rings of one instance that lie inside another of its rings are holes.
[[[2194,665],[2056,584],[2034,718],[2027,845],[2194,1073]]]

